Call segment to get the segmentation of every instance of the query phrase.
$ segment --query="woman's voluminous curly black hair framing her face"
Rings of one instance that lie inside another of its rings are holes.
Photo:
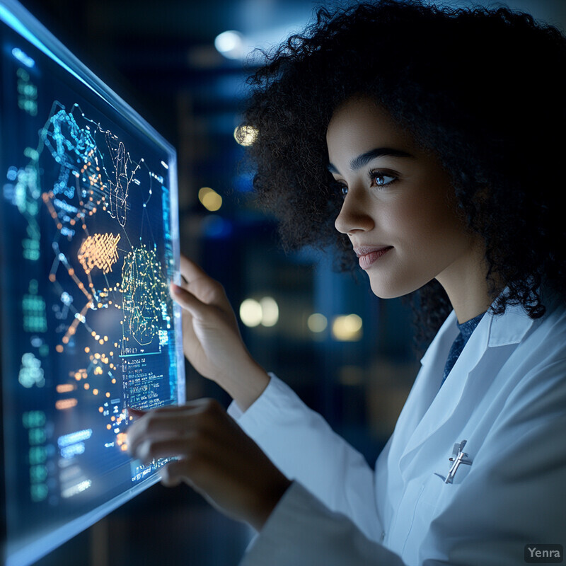
[[[376,0],[330,13],[291,35],[250,76],[243,118],[257,129],[248,157],[258,199],[279,217],[288,248],[337,246],[342,199],[328,173],[325,134],[353,96],[376,100],[450,175],[458,214],[485,242],[487,281],[501,314],[545,313],[541,289],[566,297],[566,38],[507,8],[439,8]],[[495,292],[494,275],[507,287]],[[417,292],[421,338],[451,309],[433,280]]]

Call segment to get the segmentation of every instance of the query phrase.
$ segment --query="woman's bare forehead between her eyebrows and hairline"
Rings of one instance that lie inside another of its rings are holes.
[[[335,110],[326,130],[326,143],[331,162],[380,146],[415,149],[410,135],[370,98],[347,100]]]

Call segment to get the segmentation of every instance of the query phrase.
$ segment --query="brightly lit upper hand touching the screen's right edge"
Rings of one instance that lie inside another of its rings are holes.
[[[245,411],[265,389],[269,376],[246,349],[221,284],[183,255],[180,270],[186,283],[171,284],[171,296],[183,308],[185,356]]]

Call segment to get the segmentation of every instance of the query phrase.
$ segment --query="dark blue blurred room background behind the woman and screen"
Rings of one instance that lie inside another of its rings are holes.
[[[271,296],[275,326],[248,328],[246,344],[266,369],[287,381],[373,464],[393,430],[419,363],[410,313],[380,301],[366,276],[337,274],[332,258],[286,254],[274,221],[255,206],[250,177],[238,170],[243,149],[233,130],[250,70],[216,52],[214,38],[238,30],[253,45],[276,44],[311,18],[318,5],[300,0],[21,0],[83,63],[144,116],[178,151],[181,249],[226,288],[236,312],[244,299]],[[472,2],[447,1],[449,5]],[[498,5],[497,2],[478,4]],[[563,0],[507,5],[566,23]],[[223,197],[210,213],[200,187]],[[312,313],[329,327],[313,333]],[[363,320],[359,340],[330,332],[335,316]],[[229,398],[187,367],[187,398]],[[50,565],[236,565],[252,535],[186,486],[155,485],[37,562]]]

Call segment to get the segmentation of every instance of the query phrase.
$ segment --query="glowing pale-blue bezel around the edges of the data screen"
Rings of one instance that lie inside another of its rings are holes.
[[[144,118],[142,118],[132,107],[125,103],[120,96],[118,96],[110,87],[108,87],[98,76],[82,64],[74,54],[72,54],[67,47],[64,47],[59,40],[57,40],[47,28],[45,28],[40,21],[28,12],[21,4],[14,0],[0,0],[0,25],[7,25],[12,30],[21,35],[23,39],[30,42],[32,45],[42,51],[47,57],[52,59],[53,62],[58,64],[62,69],[66,70],[78,79],[83,85],[87,86],[96,96],[100,97],[105,103],[109,104],[113,110],[119,112],[122,118],[131,125],[138,132],[151,140],[157,146],[160,146],[163,151],[168,155],[168,166],[171,185],[170,202],[171,202],[171,239],[173,246],[173,258],[175,261],[174,281],[180,283],[179,261],[179,228],[178,228],[178,185],[177,185],[177,156],[173,145],[171,145],[161,134],[158,134],[154,127],[151,127]],[[1,259],[1,258],[0,258]],[[2,309],[0,301],[0,309]],[[1,312],[0,312],[1,313]],[[2,320],[4,320],[4,313]],[[175,333],[177,335],[175,357],[177,358],[178,368],[178,389],[177,398],[181,402],[185,400],[185,362],[183,355],[182,339],[180,335],[180,307],[173,304],[173,316],[175,318]],[[0,347],[0,362],[2,359],[2,352]],[[0,365],[1,366],[1,365]],[[4,415],[6,415],[6,408],[2,402],[2,387],[0,387],[0,410],[2,415],[2,422],[4,423]],[[27,566],[39,560],[42,556],[47,555],[59,545],[69,541],[70,538],[76,536],[84,529],[92,526],[104,516],[112,512],[120,505],[132,499],[135,495],[146,490],[151,485],[158,482],[159,477],[154,473],[149,478],[142,480],[139,484],[122,492],[122,494],[113,497],[108,502],[96,509],[91,510],[83,516],[69,521],[69,523],[56,529],[49,531],[43,536],[32,536],[28,541],[18,541],[17,548],[11,541],[6,538],[6,475],[4,473],[4,446],[8,439],[4,439],[6,427],[3,426],[3,433],[0,434],[0,481],[1,481],[1,517],[0,517],[0,534],[3,541],[2,553],[6,566]]]

